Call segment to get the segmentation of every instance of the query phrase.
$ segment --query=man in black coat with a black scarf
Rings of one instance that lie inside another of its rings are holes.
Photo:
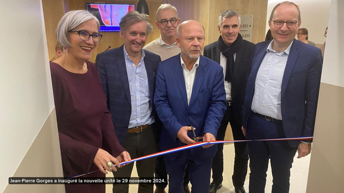
[[[225,90],[227,110],[217,131],[217,140],[224,140],[228,123],[232,129],[234,140],[245,140],[241,131],[242,106],[244,103],[246,81],[250,69],[255,44],[242,39],[240,16],[235,10],[224,10],[219,17],[217,26],[221,33],[218,41],[204,47],[204,56],[208,57],[223,68],[225,75]],[[222,187],[223,181],[223,143],[217,144],[218,150],[213,159],[212,178],[209,193],[216,193]],[[244,182],[247,174],[249,155],[246,142],[234,143],[235,158],[232,175],[235,193],[245,193]]]

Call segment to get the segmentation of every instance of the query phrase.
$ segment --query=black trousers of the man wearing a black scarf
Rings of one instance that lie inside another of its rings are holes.
[[[229,106],[225,112],[224,118],[221,121],[220,128],[217,132],[216,140],[224,140],[226,134],[226,128],[228,123],[232,129],[234,140],[245,140],[245,136],[241,131],[241,124],[237,122],[234,116],[234,111],[231,106]],[[218,150],[213,159],[212,170],[213,170],[213,181],[217,184],[223,181],[223,170],[224,170],[224,159],[223,159],[223,143],[217,144]],[[234,158],[234,169],[232,175],[232,181],[234,187],[244,186],[244,182],[247,174],[248,165],[248,150],[246,142],[235,142],[234,143],[235,158]]]

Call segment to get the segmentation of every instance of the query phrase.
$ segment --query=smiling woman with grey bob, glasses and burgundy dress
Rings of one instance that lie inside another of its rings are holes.
[[[130,156],[119,144],[95,65],[88,61],[102,38],[85,10],[66,13],[56,38],[63,55],[50,63],[64,177],[105,177]],[[107,171],[106,171],[107,170]],[[66,184],[66,193],[105,193],[105,184]]]

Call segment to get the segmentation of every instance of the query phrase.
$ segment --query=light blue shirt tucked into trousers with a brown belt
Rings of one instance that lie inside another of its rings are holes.
[[[149,86],[147,72],[144,66],[144,52],[139,65],[136,67],[133,60],[130,59],[125,46],[123,46],[125,66],[127,68],[131,114],[128,128],[154,123],[152,107],[149,105]]]

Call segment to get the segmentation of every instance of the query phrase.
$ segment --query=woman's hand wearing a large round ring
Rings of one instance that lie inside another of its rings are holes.
[[[111,168],[108,167],[108,165],[106,165],[109,161],[111,161],[114,164],[113,166],[111,166]],[[117,168],[115,167],[115,165],[117,167],[121,167],[121,165],[119,165],[119,162],[116,158],[114,158],[107,151],[105,151],[104,149],[101,149],[101,148],[99,148],[97,153],[95,154],[95,157],[93,159],[93,163],[95,165],[97,165],[99,170],[101,172],[103,172],[104,174],[108,174],[108,172],[106,170],[117,171]]]

